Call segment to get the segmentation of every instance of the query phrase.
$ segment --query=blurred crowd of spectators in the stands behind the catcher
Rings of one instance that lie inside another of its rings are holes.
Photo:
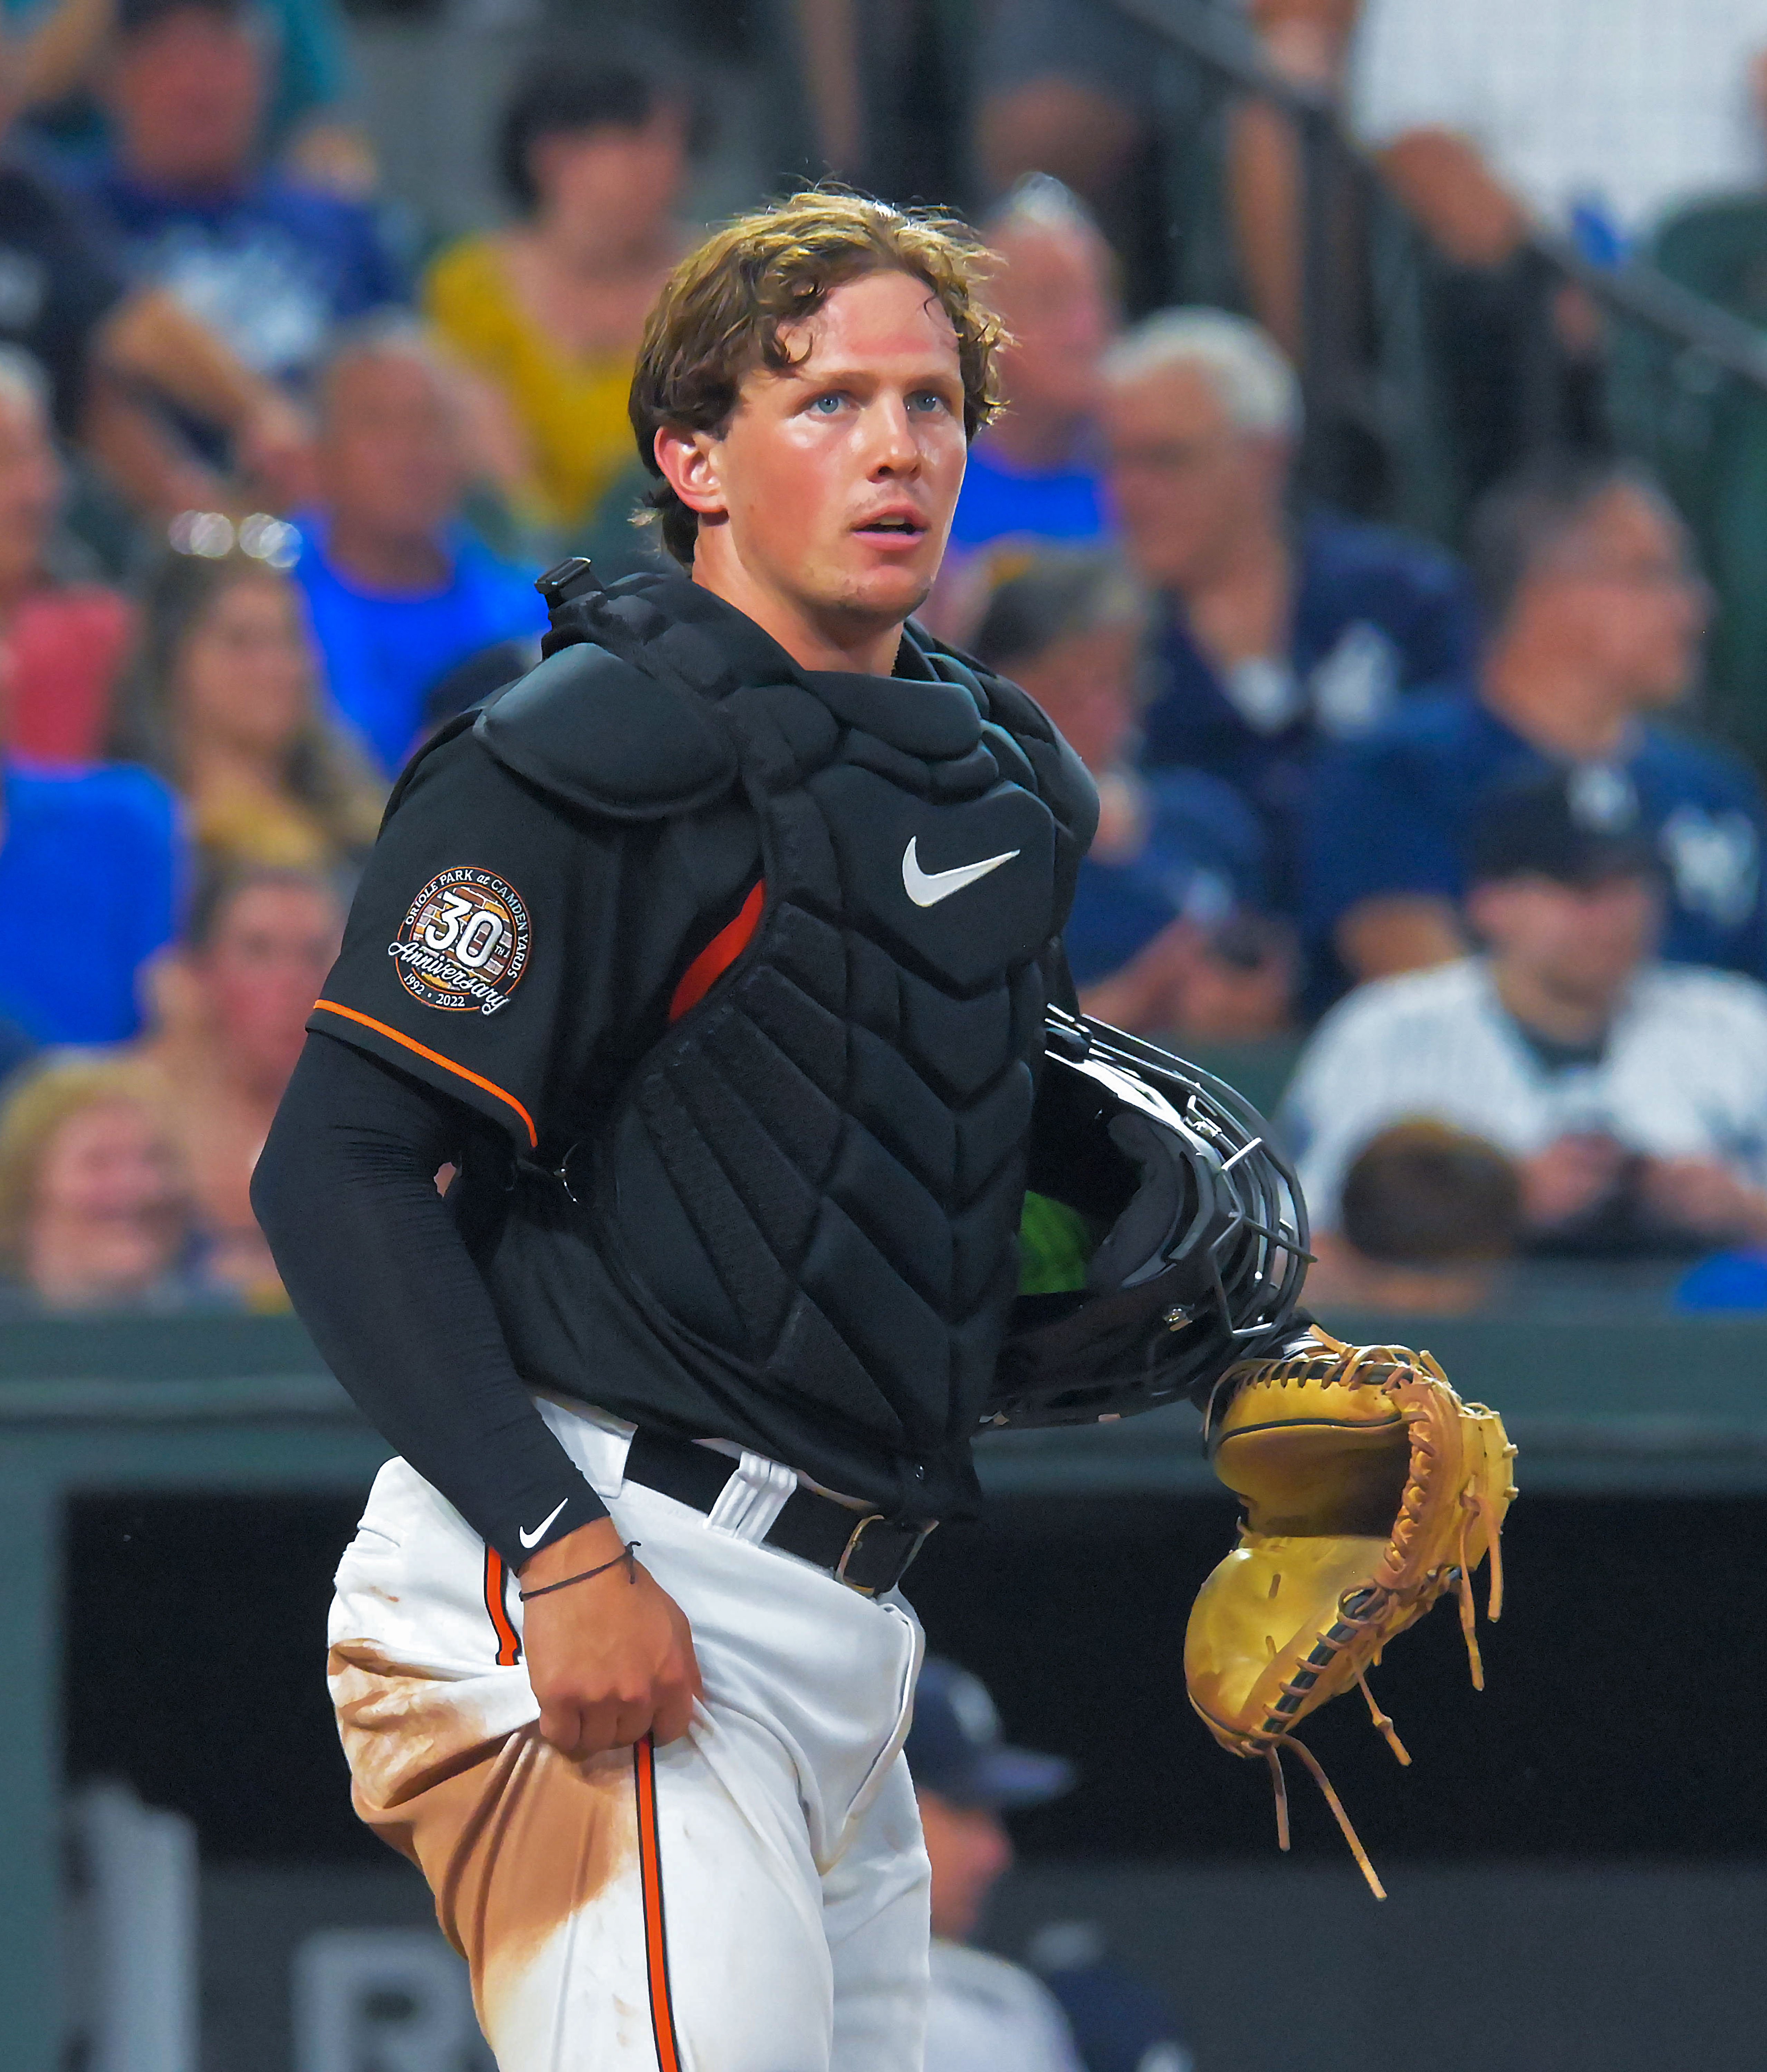
[[[331,0],[6,0],[12,1312],[280,1303],[251,1167],[387,787],[528,665],[539,568],[655,551],[626,392],[717,147],[692,12],[561,17],[462,139],[503,218],[450,240],[379,186]],[[1197,12],[1429,242],[1452,539],[1303,487],[1293,114],[1210,137],[1214,307],[1162,251],[1166,54],[1108,0],[775,23],[810,170],[953,199],[996,255],[1009,410],[924,615],[1098,779],[1081,1003],[1280,1094],[1322,1299],[1767,1258],[1767,810],[1701,731],[1713,599],[1616,452],[1603,319],[1549,294],[1545,423],[1531,327],[1541,232],[1614,263],[1767,193],[1767,0]]]

